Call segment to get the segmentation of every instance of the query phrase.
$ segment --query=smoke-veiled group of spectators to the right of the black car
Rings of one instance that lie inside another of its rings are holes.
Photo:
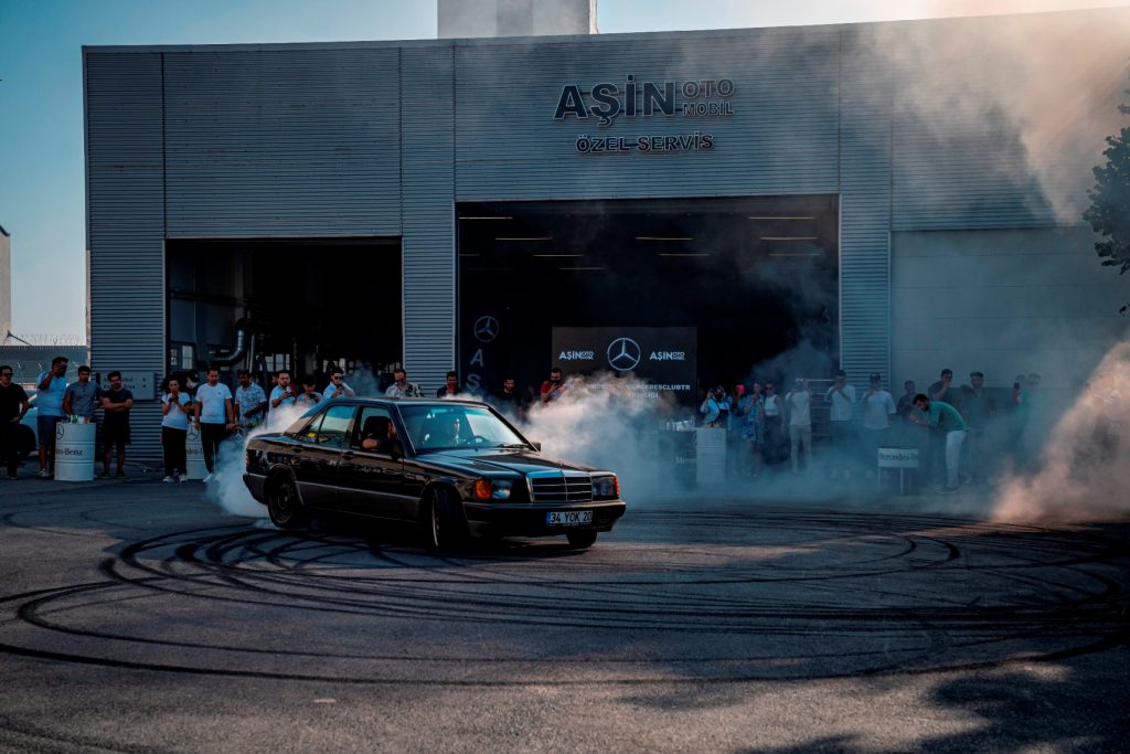
[[[939,492],[983,483],[1005,470],[1031,469],[1038,461],[1053,424],[1037,373],[1018,375],[1010,388],[990,389],[975,371],[968,382],[954,383],[942,370],[924,392],[912,380],[896,400],[883,387],[883,375],[869,375],[857,395],[847,374],[837,371],[818,392],[809,381],[794,380],[781,399],[773,381],[723,385],[706,391],[698,409],[702,425],[728,432],[731,476],[758,476],[764,468],[789,465],[793,474],[814,470],[814,408],[826,424],[817,453],[829,480],[875,478],[880,448],[915,449],[923,475]],[[1112,374],[1089,388],[1097,406],[1093,434],[1097,452],[1113,458],[1122,432],[1122,397]]]

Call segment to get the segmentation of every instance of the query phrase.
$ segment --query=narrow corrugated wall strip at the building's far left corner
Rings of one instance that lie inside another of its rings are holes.
[[[89,52],[84,75],[90,366],[102,373],[162,372],[162,57]],[[159,404],[136,404],[131,421],[137,430],[130,454],[159,454]]]

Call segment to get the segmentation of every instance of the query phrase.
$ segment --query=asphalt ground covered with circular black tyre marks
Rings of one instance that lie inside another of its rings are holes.
[[[0,479],[0,751],[1130,749],[1130,519],[932,509],[688,494],[437,556]]]

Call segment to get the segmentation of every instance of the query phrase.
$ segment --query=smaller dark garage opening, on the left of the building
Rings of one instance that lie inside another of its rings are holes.
[[[399,239],[179,240],[165,253],[171,373],[231,361],[321,385],[329,364],[402,358]]]

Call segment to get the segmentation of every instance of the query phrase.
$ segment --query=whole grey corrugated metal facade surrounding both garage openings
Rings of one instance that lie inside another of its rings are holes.
[[[890,47],[906,29],[945,46],[1008,23],[90,49],[94,358],[163,369],[168,236],[402,235],[405,363],[437,383],[455,356],[457,201],[838,193],[842,363],[855,382],[887,374],[892,229],[1054,223],[1002,110],[919,106],[975,92],[976,57],[927,78]],[[734,115],[554,121],[564,85],[629,73],[730,78]],[[696,130],[713,150],[575,149],[582,135]]]

